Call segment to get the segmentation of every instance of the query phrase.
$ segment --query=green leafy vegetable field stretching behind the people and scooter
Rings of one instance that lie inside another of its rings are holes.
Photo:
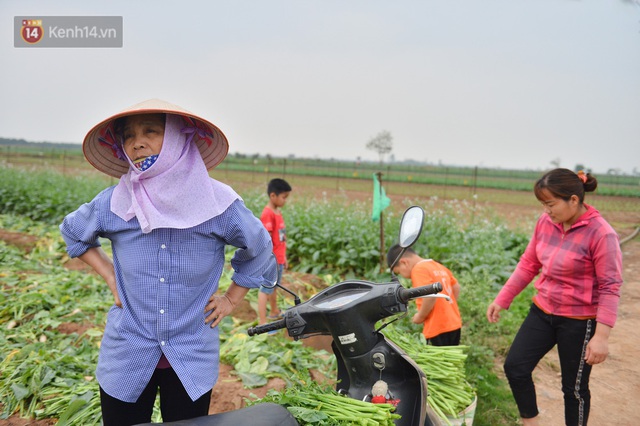
[[[259,214],[266,203],[266,180],[274,175],[221,169],[214,177],[234,186]],[[306,299],[346,277],[388,279],[379,265],[380,225],[370,219],[369,180],[349,181],[353,187],[345,188],[330,178],[287,179],[294,191],[284,208],[291,266],[285,285]],[[93,374],[112,299],[95,275],[68,259],[56,225],[111,183],[90,173],[71,177],[56,171],[0,169],[0,425],[99,424]],[[416,190],[411,183],[384,185],[392,198],[383,216],[385,247],[394,242],[404,208],[419,204],[427,218],[416,250],[447,265],[463,286],[465,380],[478,395],[474,424],[516,424],[499,363],[529,298],[520,296],[498,325],[490,326],[484,313],[524,249],[539,212],[535,200],[526,192],[478,190],[469,196],[464,188],[462,193],[449,188],[445,194],[439,186]],[[638,198],[597,195],[589,201],[623,236],[640,224]],[[640,243],[636,238],[630,244]],[[228,279],[223,277],[221,285]],[[278,294],[286,309],[291,297]],[[256,323],[256,305],[257,293],[250,293],[233,318],[223,322],[225,365],[214,388],[212,412],[251,403],[267,396],[269,389],[331,383],[335,366],[321,349],[326,340],[294,342],[282,332],[246,336],[246,328]]]

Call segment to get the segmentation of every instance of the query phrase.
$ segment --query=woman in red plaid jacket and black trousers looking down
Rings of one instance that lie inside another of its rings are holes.
[[[544,214],[516,270],[487,309],[495,323],[500,311],[537,276],[536,295],[511,344],[504,370],[524,425],[537,425],[532,372],[555,345],[562,371],[567,425],[586,425],[591,367],[604,362],[616,321],[622,285],[618,235],[584,203],[598,181],[591,174],[554,169],[535,186]]]

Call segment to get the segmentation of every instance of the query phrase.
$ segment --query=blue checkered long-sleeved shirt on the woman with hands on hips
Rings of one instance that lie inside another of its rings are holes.
[[[225,245],[238,247],[233,281],[258,288],[276,279],[269,234],[242,200],[189,229],[143,234],[109,208],[113,187],[69,214],[60,225],[67,252],[77,257],[111,240],[122,308],[110,308],[96,376],[109,395],[135,402],[165,354],[194,401],[218,378],[218,328],[204,307],[218,289]]]

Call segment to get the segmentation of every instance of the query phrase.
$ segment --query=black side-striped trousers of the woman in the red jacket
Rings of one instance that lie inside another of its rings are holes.
[[[504,363],[504,371],[522,418],[538,415],[532,373],[542,357],[558,345],[565,423],[569,426],[587,424],[591,403],[591,366],[584,361],[584,355],[595,328],[595,320],[548,315],[536,305],[531,306]]]

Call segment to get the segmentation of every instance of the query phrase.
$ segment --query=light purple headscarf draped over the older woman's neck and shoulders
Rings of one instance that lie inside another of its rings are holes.
[[[240,199],[231,187],[209,177],[192,134],[181,116],[167,114],[158,159],[144,171],[129,159],[129,172],[111,196],[111,211],[127,222],[137,217],[146,234],[157,228],[191,228]]]

